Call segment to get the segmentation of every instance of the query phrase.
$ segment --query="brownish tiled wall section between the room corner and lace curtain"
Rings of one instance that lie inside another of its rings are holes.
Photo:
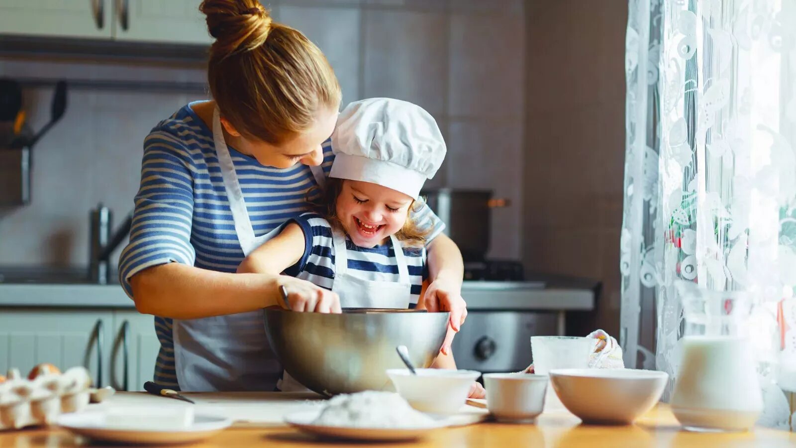
[[[527,269],[603,281],[577,328],[619,328],[627,2],[527,3]]]

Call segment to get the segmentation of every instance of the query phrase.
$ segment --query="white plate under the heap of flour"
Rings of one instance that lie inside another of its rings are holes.
[[[287,415],[285,422],[308,434],[326,438],[367,440],[371,442],[406,441],[421,438],[441,426],[420,428],[362,428],[357,426],[314,425],[320,411],[305,411]]]

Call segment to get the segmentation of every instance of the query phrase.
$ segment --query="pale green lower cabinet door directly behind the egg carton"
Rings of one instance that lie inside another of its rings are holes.
[[[58,308],[0,308],[0,372],[27,375],[36,364],[61,371],[85,366],[95,385],[108,379],[113,313]]]

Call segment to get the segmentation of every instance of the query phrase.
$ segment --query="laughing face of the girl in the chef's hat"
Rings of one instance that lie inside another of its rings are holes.
[[[383,244],[404,226],[414,200],[375,183],[345,179],[338,195],[338,219],[360,247]]]

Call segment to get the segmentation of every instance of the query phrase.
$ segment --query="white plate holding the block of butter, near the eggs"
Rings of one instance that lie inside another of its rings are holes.
[[[166,444],[198,442],[228,428],[232,425],[232,420],[197,414],[193,425],[185,428],[131,430],[105,426],[102,412],[88,411],[60,415],[56,423],[75,434],[105,442]]]

